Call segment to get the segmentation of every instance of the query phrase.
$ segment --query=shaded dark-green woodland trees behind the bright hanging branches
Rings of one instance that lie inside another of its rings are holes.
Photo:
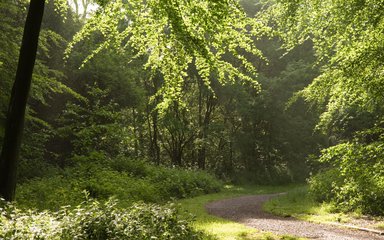
[[[13,14],[10,19],[22,18],[21,8],[8,5],[4,11],[13,9],[7,13]],[[252,6],[250,14],[257,10]],[[13,30],[5,20],[3,25]],[[43,70],[35,70],[38,80],[28,106],[20,182],[55,175],[81,161],[91,163],[92,157],[82,160],[91,155],[206,169],[225,180],[265,184],[305,179],[309,172],[305,157],[317,153],[321,142],[312,132],[316,114],[308,112],[303,101],[288,109],[286,102],[317,74],[311,65],[315,61],[311,44],[280,59],[283,51],[278,50],[277,39],[255,39],[268,59],[250,58],[261,92],[241,82],[223,86],[214,76],[206,86],[190,69],[181,103],[173,101],[163,108],[164,96],[155,93],[164,76],[143,69],[145,57],[131,60],[133,49],[105,49],[78,69],[92,46],[102,43],[97,33],[90,33],[63,61],[66,43],[81,25],[73,12],[62,22],[54,5],[47,6],[42,30],[47,36],[37,59]],[[4,46],[11,42],[4,41]],[[14,48],[17,52],[17,45]],[[11,59],[2,60],[3,66],[6,60]],[[3,67],[2,72],[8,74],[2,82],[4,121],[12,71]]]

